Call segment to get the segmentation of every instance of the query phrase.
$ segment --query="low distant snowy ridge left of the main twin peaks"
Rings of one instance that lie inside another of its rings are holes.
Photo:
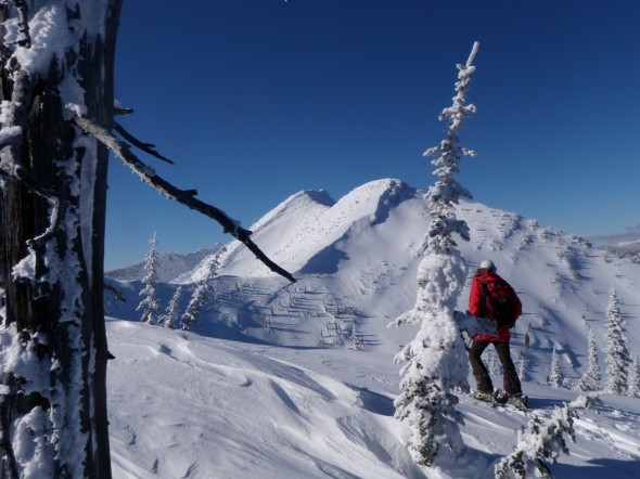
[[[210,248],[202,248],[194,253],[180,254],[174,251],[158,253],[157,277],[162,283],[169,283],[177,276],[193,270],[200,262],[214,255],[221,245],[214,245]],[[118,268],[117,270],[107,271],[104,275],[115,281],[141,281],[144,275],[145,260],[137,262],[130,267]]]

